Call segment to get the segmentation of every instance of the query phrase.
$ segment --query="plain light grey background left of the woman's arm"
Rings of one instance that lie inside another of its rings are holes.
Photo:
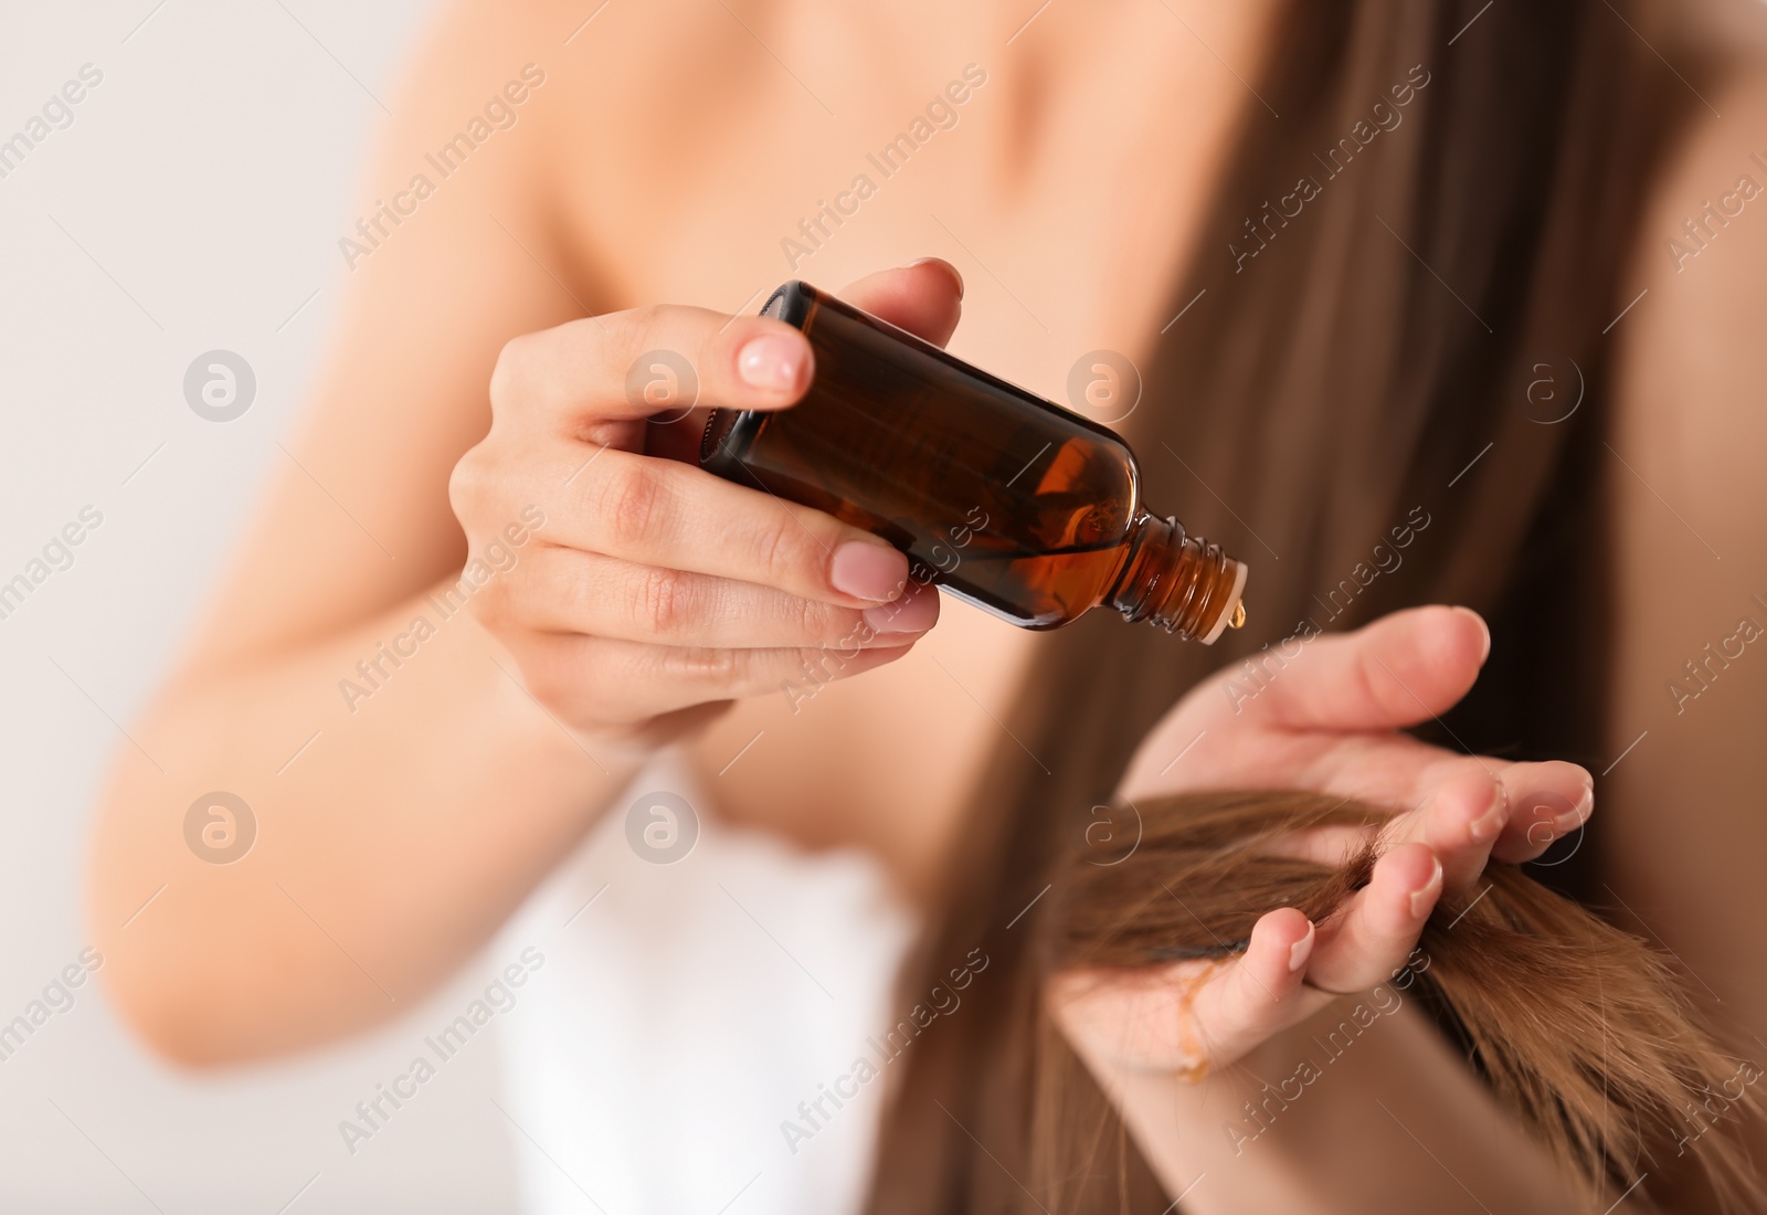
[[[0,620],[0,1023],[87,945],[81,853],[127,745],[111,719],[140,712],[281,459],[383,118],[369,92],[396,104],[433,18],[429,0],[154,5],[0,5],[0,138],[81,64],[104,72],[0,180],[0,581],[83,505],[104,514]],[[258,376],[224,426],[182,396],[212,348]],[[143,1054],[87,984],[0,1063],[0,1210],[512,1210],[493,1035],[353,1157],[337,1134],[495,961],[373,1038],[221,1075]]]

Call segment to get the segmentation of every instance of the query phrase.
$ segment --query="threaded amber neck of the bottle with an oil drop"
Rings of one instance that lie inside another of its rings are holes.
[[[1244,590],[1242,562],[1186,535],[1172,516],[1161,519],[1143,510],[1129,526],[1129,558],[1106,602],[1124,620],[1147,620],[1186,641],[1210,645],[1235,618],[1244,620],[1239,615]]]

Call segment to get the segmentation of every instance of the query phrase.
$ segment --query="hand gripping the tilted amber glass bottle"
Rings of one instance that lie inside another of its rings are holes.
[[[846,297],[944,343],[961,283],[924,261]],[[693,376],[675,371],[675,389],[664,367],[679,360]],[[813,374],[790,325],[698,307],[611,313],[504,348],[489,434],[449,496],[474,553],[544,516],[537,544],[470,602],[553,717],[652,742],[802,678],[823,648],[843,652],[846,676],[933,627],[937,592],[908,583],[889,542],[686,463],[703,406],[788,408]]]

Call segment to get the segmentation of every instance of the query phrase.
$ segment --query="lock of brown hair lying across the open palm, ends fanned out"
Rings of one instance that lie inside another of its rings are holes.
[[[1074,849],[1048,874],[1048,906],[1032,927],[1039,985],[1060,973],[1172,968],[1173,957],[1194,959],[1175,966],[1202,978],[1276,908],[1329,925],[1368,885],[1391,821],[1371,805],[1299,791],[1191,793],[1136,811],[1141,832],[1129,855],[1104,865]],[[1336,867],[1272,848],[1323,826],[1369,828],[1368,842]],[[1647,1158],[1657,1169],[1687,1139],[1698,1141],[1695,1162],[1726,1210],[1760,1210],[1767,1199],[1733,1136],[1742,1113],[1756,1118],[1742,1097],[1760,1068],[1719,1051],[1663,955],[1520,867],[1493,864],[1475,892],[1444,899],[1408,964],[1375,991],[1382,1012],[1405,991],[1451,1023],[1498,1104],[1585,1183],[1592,1203],[1633,1190]],[[1354,1040],[1348,1007],[1343,1017]],[[1099,1181],[1113,1180],[1097,1144],[1113,1141],[1115,1116],[1085,1093],[1096,1086],[1048,1019],[1030,1075],[1037,1151],[1027,1183],[1051,1211],[1088,1210]],[[1689,1107],[1703,1107],[1710,1123],[1691,1121]],[[1064,1201],[1073,1196],[1080,1204]]]

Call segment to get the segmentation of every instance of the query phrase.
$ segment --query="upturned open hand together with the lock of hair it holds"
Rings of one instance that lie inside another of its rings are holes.
[[[1067,1040],[1202,1079],[1410,964],[1412,994],[1583,1180],[1619,1194],[1649,1153],[1673,1155],[1684,1106],[1748,1061],[1718,1051],[1656,954],[1514,867],[1590,816],[1589,774],[1398,733],[1454,705],[1488,646],[1472,613],[1422,608],[1309,641],[1242,712],[1226,675],[1186,696],[1122,786],[1136,849],[1066,857],[1039,908],[1044,1008]],[[1730,1127],[1698,1160],[1730,1210],[1758,1210]]]

